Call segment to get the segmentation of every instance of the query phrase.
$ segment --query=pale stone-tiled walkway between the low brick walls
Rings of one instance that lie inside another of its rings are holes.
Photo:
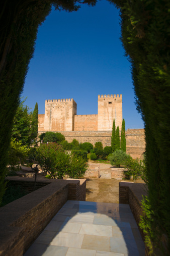
[[[70,201],[24,256],[144,256],[128,204]]]

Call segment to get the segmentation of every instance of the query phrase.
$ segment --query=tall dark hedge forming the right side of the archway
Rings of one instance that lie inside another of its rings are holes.
[[[132,68],[136,106],[145,126],[148,203],[154,212],[150,241],[162,234],[170,253],[170,2],[115,1],[121,8],[122,41]],[[149,222],[148,222],[149,223]],[[147,225],[147,223],[146,223]],[[147,237],[147,239],[149,239]],[[160,255],[160,254],[159,254]]]

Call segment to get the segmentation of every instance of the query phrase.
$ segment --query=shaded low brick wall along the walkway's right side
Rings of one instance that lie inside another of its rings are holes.
[[[143,199],[142,195],[147,195],[145,184],[119,182],[119,203],[129,204],[144,241],[143,231],[139,227],[140,216],[143,216],[141,208],[141,200]],[[148,255],[147,248],[145,249],[145,255]]]

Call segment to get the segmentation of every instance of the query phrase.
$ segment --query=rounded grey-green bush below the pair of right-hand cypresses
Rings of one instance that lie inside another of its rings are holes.
[[[129,158],[129,155],[119,149],[112,153],[112,156],[109,157],[109,160],[111,162],[111,165],[120,167],[120,165],[126,165],[126,162]]]

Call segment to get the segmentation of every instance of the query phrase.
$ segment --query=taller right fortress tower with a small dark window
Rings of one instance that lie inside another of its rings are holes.
[[[122,126],[122,94],[98,95],[98,131],[111,131],[113,120]]]

